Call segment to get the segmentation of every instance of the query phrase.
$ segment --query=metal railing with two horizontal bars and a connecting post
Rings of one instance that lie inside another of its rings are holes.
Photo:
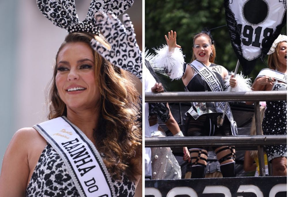
[[[260,175],[266,176],[263,145],[287,144],[287,135],[262,135],[259,101],[287,100],[287,91],[145,92],[145,102],[254,102],[256,136],[146,137],[146,147],[257,145]]]

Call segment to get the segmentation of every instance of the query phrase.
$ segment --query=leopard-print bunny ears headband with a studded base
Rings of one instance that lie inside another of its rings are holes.
[[[112,11],[119,16],[129,9],[134,0],[92,0],[86,18],[81,22],[76,13],[74,0],[37,0],[42,14],[54,25],[66,29],[68,33],[89,32],[99,35],[94,14],[98,11]]]

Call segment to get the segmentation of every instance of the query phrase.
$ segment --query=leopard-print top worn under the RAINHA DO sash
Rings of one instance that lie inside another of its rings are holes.
[[[134,196],[135,182],[125,174],[113,180],[115,196]],[[80,196],[63,160],[50,144],[44,148],[26,190],[27,197]]]

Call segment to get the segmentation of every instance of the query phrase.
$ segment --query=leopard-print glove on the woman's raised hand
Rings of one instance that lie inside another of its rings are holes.
[[[123,15],[123,24],[112,12],[97,12],[95,19],[111,49],[95,39],[91,40],[92,48],[115,66],[131,72],[142,81],[142,52],[137,45],[129,15]]]

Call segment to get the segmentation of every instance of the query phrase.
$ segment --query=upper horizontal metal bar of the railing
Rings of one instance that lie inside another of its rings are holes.
[[[145,92],[145,102],[217,102],[287,100],[287,91]]]

